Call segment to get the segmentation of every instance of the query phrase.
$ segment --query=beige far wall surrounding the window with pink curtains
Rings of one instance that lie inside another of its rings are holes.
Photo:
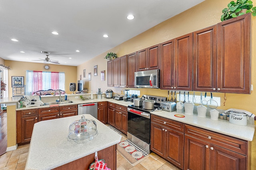
[[[11,70],[8,72],[8,87],[9,87],[9,96],[12,96],[12,76],[24,76],[24,84],[26,85],[26,70],[36,70],[36,71],[46,71],[44,70],[44,63],[30,63],[30,62],[20,62],[20,61],[10,61],[6,60],[4,65],[10,66]],[[58,64],[48,64],[50,70],[47,71],[56,71],[56,72],[65,72],[65,90],[67,94],[72,94],[69,91],[69,83],[77,82],[76,79],[76,66],[64,66]]]

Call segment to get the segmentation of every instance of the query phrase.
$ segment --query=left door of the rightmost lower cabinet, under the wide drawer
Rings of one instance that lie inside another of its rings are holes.
[[[209,145],[205,141],[185,135],[184,170],[209,170]]]

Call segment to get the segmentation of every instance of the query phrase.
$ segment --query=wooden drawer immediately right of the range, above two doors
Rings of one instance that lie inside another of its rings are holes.
[[[164,125],[166,127],[169,127],[170,129],[173,129],[182,133],[184,132],[184,123],[180,123],[178,121],[173,121],[157,115],[151,115],[151,122],[154,122],[158,125]]]

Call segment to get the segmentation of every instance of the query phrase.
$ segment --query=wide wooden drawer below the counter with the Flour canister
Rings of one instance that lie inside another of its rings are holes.
[[[247,155],[247,142],[219,133],[185,125],[185,134],[202,139],[214,145]]]

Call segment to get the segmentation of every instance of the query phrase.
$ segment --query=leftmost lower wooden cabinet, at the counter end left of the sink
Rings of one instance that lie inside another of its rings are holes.
[[[19,145],[30,142],[34,124],[37,122],[37,109],[21,110],[16,112],[16,142]]]

